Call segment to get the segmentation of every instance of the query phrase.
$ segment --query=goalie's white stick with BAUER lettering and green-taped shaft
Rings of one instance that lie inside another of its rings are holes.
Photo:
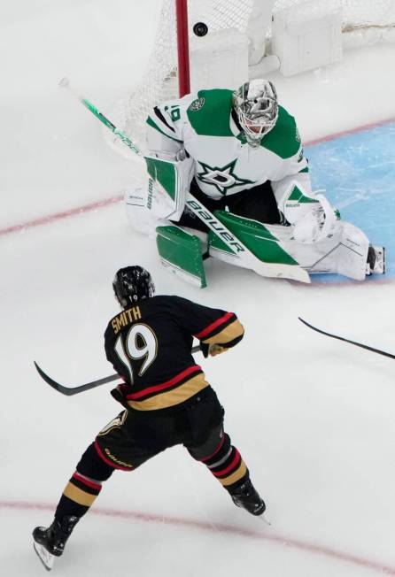
[[[130,150],[136,153],[137,156],[143,158],[143,152],[138,148],[135,142],[133,142],[124,132],[112,124],[111,120],[107,119],[102,112],[99,112],[94,104],[91,104],[87,98],[79,96],[70,85],[68,78],[62,78],[59,81],[59,86],[61,88],[67,88],[69,92],[81,102],[100,122],[103,122],[105,127],[109,128],[112,133],[120,138],[120,140],[128,146]],[[219,219],[217,219],[212,212],[208,211],[205,206],[197,201],[195,196],[191,195],[190,192],[187,193],[185,204],[188,205],[190,210],[196,214],[197,218],[205,223],[205,226],[210,228],[215,235],[217,235],[222,242],[224,242],[228,249],[239,258],[241,261],[247,265],[247,268],[251,268],[255,273],[261,276],[291,279],[293,281],[300,282],[311,282],[310,276],[299,265],[282,265],[275,263],[266,263],[256,257],[250,249],[248,249],[243,242],[241,242],[233,233],[230,232],[228,227],[225,227]]]

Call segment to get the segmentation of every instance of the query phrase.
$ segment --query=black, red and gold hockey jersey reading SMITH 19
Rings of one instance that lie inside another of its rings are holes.
[[[105,353],[128,385],[128,405],[155,411],[183,404],[208,386],[191,355],[193,337],[227,349],[243,335],[233,312],[180,296],[151,296],[110,320]]]

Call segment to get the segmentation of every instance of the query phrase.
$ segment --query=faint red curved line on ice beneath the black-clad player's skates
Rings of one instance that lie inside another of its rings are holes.
[[[2,511],[2,517],[5,517],[6,512],[12,514],[12,511],[21,512],[33,512],[33,511],[43,511],[43,512],[53,512],[53,504],[43,504],[34,502],[24,502],[24,501],[0,501],[0,510]],[[319,556],[321,558],[330,558],[334,561],[339,561],[349,565],[359,566],[360,568],[370,569],[373,572],[384,574],[384,575],[394,575],[395,576],[395,565],[382,564],[376,560],[369,559],[367,557],[362,557],[359,555],[354,555],[352,553],[347,553],[346,551],[336,550],[329,546],[321,545],[314,542],[302,541],[297,538],[290,537],[288,535],[280,535],[275,532],[275,519],[271,519],[271,527],[267,526],[267,523],[260,518],[251,519],[251,527],[259,528],[245,528],[237,527],[236,525],[228,525],[223,523],[212,523],[206,522],[199,519],[188,519],[183,517],[174,516],[163,516],[155,515],[151,513],[144,512],[132,512],[132,511],[117,511],[112,509],[97,508],[90,512],[91,515],[97,515],[98,517],[107,517],[109,519],[125,519],[125,520],[136,520],[148,523],[159,523],[160,525],[168,525],[173,527],[181,527],[182,529],[197,529],[202,532],[212,533],[214,535],[233,535],[235,537],[241,537],[244,539],[251,539],[255,541],[273,543],[275,546],[280,548],[285,548],[287,550],[298,550],[299,552],[305,552],[314,556]],[[259,523],[257,524],[257,520]],[[262,523],[262,524],[261,524]],[[33,523],[34,525],[34,523]]]

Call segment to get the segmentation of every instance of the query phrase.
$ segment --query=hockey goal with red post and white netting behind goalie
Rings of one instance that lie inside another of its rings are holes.
[[[252,45],[260,46],[260,56],[270,50],[270,22],[275,12],[292,10],[298,20],[308,18],[311,0],[162,0],[159,27],[153,42],[143,81],[128,98],[124,128],[143,146],[144,122],[155,104],[183,96],[190,91],[190,47],[200,40],[193,32],[205,23],[207,36],[238,31]],[[342,10],[343,44],[360,46],[395,40],[395,0],[327,0],[329,7]],[[271,13],[267,18],[267,6]],[[260,18],[261,26],[257,26]],[[257,34],[259,37],[257,37]],[[193,52],[192,52],[193,57]],[[250,65],[255,64],[250,61]],[[250,66],[253,77],[253,67]],[[191,87],[194,89],[193,85]]]

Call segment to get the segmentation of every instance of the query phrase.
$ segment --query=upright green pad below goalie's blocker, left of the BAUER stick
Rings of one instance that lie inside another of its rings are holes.
[[[199,238],[175,225],[157,227],[157,247],[162,264],[201,289],[206,286]]]

